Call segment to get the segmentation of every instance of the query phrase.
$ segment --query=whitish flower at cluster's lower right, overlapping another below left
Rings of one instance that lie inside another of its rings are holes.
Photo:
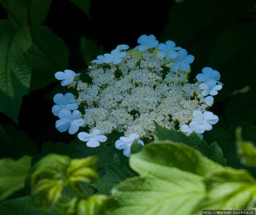
[[[210,131],[212,129],[212,125],[216,124],[219,120],[218,116],[214,115],[210,111],[202,113],[200,110],[194,110],[192,115],[194,116],[192,122],[196,122],[198,125],[203,125],[205,127],[205,131]]]

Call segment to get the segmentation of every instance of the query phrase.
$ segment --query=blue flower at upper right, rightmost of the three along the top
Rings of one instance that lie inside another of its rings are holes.
[[[181,68],[181,70],[188,70],[190,68],[189,63],[192,63],[194,61],[194,56],[189,54],[187,55],[187,51],[184,48],[181,48],[180,50],[177,51],[178,56],[177,58],[170,58],[170,61],[174,63],[170,70],[172,72],[176,72]]]

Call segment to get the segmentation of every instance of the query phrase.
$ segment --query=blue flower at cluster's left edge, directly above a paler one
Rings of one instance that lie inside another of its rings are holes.
[[[54,116],[58,116],[58,113],[63,108],[67,108],[69,110],[76,110],[78,105],[73,103],[75,101],[74,95],[72,93],[66,93],[65,95],[61,93],[57,93],[53,97],[53,101],[56,105],[53,105],[51,112],[53,112]]]

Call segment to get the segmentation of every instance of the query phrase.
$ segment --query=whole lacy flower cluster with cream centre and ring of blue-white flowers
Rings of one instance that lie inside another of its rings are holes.
[[[190,84],[184,74],[194,57],[185,49],[175,47],[173,41],[158,44],[154,35],[142,35],[138,43],[134,50],[142,52],[139,60],[123,51],[129,48],[125,44],[93,60],[88,68],[91,84],[75,81],[78,74],[70,70],[55,74],[62,86],[78,91],[77,97],[71,93],[55,95],[52,112],[60,118],[56,122],[60,132],[74,134],[79,127],[86,127],[89,133],[80,132],[78,137],[88,141],[89,147],[105,142],[105,135],[114,130],[122,132],[124,137],[115,146],[129,156],[134,139],[157,139],[154,121],[186,135],[195,131],[201,138],[204,131],[212,129],[218,116],[207,110],[213,104],[212,96],[222,88],[220,74],[204,67],[197,81]],[[109,67],[103,68],[102,63]],[[84,114],[76,110],[78,106],[84,106]],[[144,145],[139,139],[137,142]]]

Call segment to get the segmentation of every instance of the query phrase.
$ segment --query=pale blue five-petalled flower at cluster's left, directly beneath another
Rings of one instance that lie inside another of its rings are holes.
[[[70,134],[74,134],[78,131],[79,126],[84,125],[84,120],[80,117],[80,111],[74,110],[71,114],[71,110],[64,108],[59,111],[58,114],[60,120],[56,121],[55,127],[58,131],[67,131]]]

